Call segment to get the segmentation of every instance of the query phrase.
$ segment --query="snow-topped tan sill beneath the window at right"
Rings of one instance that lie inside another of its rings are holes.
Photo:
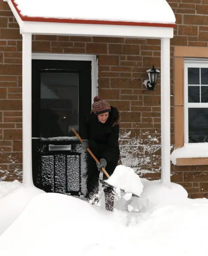
[[[187,143],[175,149],[170,159],[174,165],[208,165],[208,143]]]

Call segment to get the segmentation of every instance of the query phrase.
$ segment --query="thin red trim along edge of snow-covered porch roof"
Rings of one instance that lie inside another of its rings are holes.
[[[54,23],[77,23],[77,24],[97,24],[97,25],[121,25],[121,26],[155,26],[155,27],[171,27],[175,28],[174,23],[147,23],[147,22],[132,22],[132,21],[110,21],[110,20],[78,20],[78,19],[59,19],[59,18],[44,18],[44,17],[29,17],[23,16],[17,8],[14,0],[11,0],[21,20],[33,22],[54,22]]]

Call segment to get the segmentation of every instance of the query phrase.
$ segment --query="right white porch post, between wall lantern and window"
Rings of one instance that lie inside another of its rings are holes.
[[[170,184],[170,39],[161,39],[161,183]]]

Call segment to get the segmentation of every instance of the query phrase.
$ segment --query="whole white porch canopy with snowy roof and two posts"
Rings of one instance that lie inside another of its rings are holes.
[[[166,0],[4,0],[23,36],[23,184],[32,179],[32,34],[161,39],[161,182],[170,183],[170,38]]]

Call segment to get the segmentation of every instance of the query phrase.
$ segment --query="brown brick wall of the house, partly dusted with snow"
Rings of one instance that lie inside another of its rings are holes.
[[[168,0],[177,29],[171,39],[171,95],[174,46],[207,46],[208,0]],[[207,5],[206,5],[207,4]],[[33,52],[86,53],[99,58],[99,94],[123,116],[120,132],[121,163],[138,174],[160,178],[160,86],[145,89],[146,69],[160,69],[160,40],[75,36],[33,36]],[[21,35],[7,3],[0,0],[0,179],[21,180],[22,101]],[[112,93],[114,92],[114,93]],[[171,143],[174,142],[171,97]],[[208,167],[172,168],[172,181],[190,197],[207,196]],[[207,182],[207,183],[206,183]]]

